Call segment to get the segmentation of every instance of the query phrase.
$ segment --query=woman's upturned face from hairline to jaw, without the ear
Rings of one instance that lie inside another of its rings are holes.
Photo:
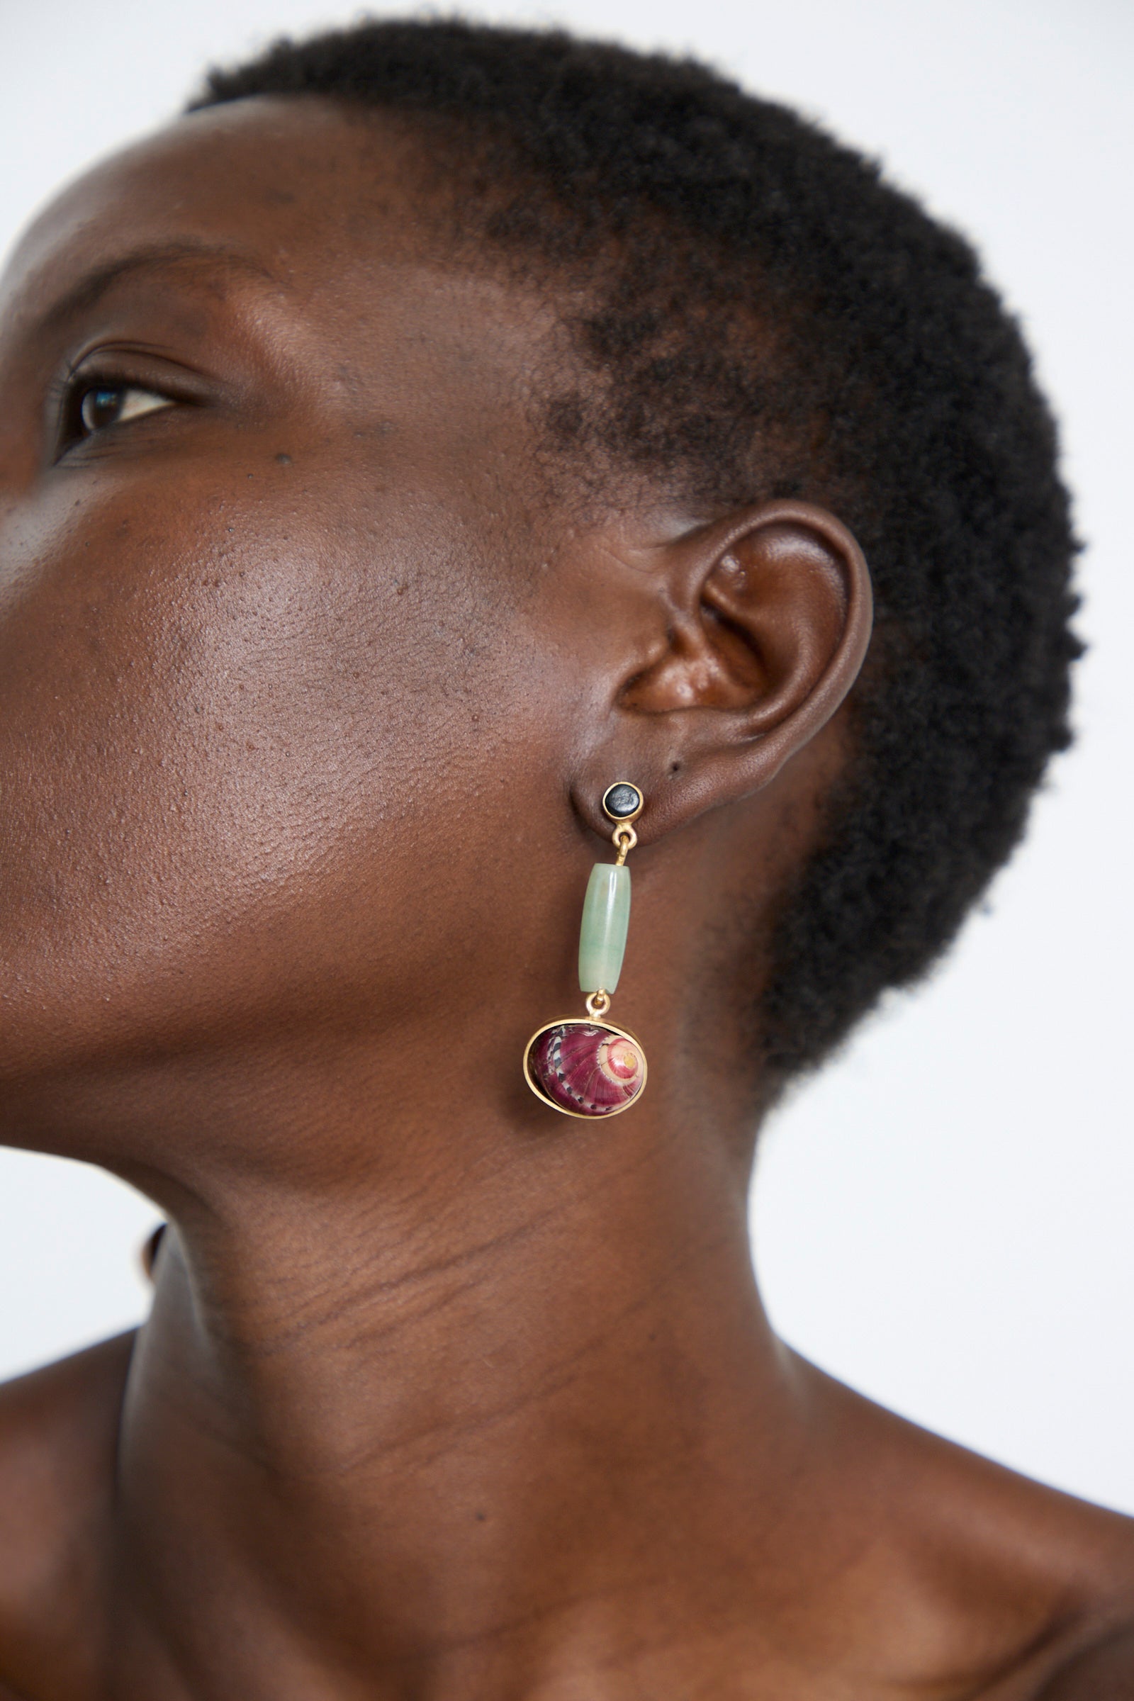
[[[92,172],[9,274],[14,1140],[90,1070],[347,1044],[439,975],[476,1021],[473,964],[539,934],[515,869],[610,621],[541,502],[547,323],[442,264],[418,177],[374,122],[243,102]]]

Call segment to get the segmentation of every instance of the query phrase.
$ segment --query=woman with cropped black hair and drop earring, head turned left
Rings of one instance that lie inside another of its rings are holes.
[[[0,1126],[170,1220],[0,1395],[5,1694],[1134,1694],[1129,1521],[745,1237],[1066,743],[964,243],[697,66],[360,26],[68,191],[0,367]]]

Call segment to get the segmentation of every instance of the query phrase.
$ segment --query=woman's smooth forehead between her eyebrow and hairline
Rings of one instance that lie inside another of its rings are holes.
[[[515,395],[556,316],[457,259],[445,185],[411,124],[257,97],[179,119],[95,167],[29,230],[0,284],[5,340],[119,277],[165,313],[240,308],[252,332],[360,366],[391,338],[454,383]],[[196,308],[194,308],[196,303]]]

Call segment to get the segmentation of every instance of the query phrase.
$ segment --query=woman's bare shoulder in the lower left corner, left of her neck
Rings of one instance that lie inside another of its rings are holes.
[[[0,1386],[0,1701],[5,1681],[19,1692],[37,1672],[43,1645],[90,1647],[133,1342]]]

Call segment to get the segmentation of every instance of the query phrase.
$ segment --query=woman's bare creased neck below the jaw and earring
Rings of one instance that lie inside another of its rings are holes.
[[[751,1611],[738,1526],[774,1524],[802,1425],[724,1141],[661,1107],[486,1133],[454,1118],[427,1186],[180,1211],[128,1390],[122,1658],[202,1698],[600,1696],[658,1624]]]

